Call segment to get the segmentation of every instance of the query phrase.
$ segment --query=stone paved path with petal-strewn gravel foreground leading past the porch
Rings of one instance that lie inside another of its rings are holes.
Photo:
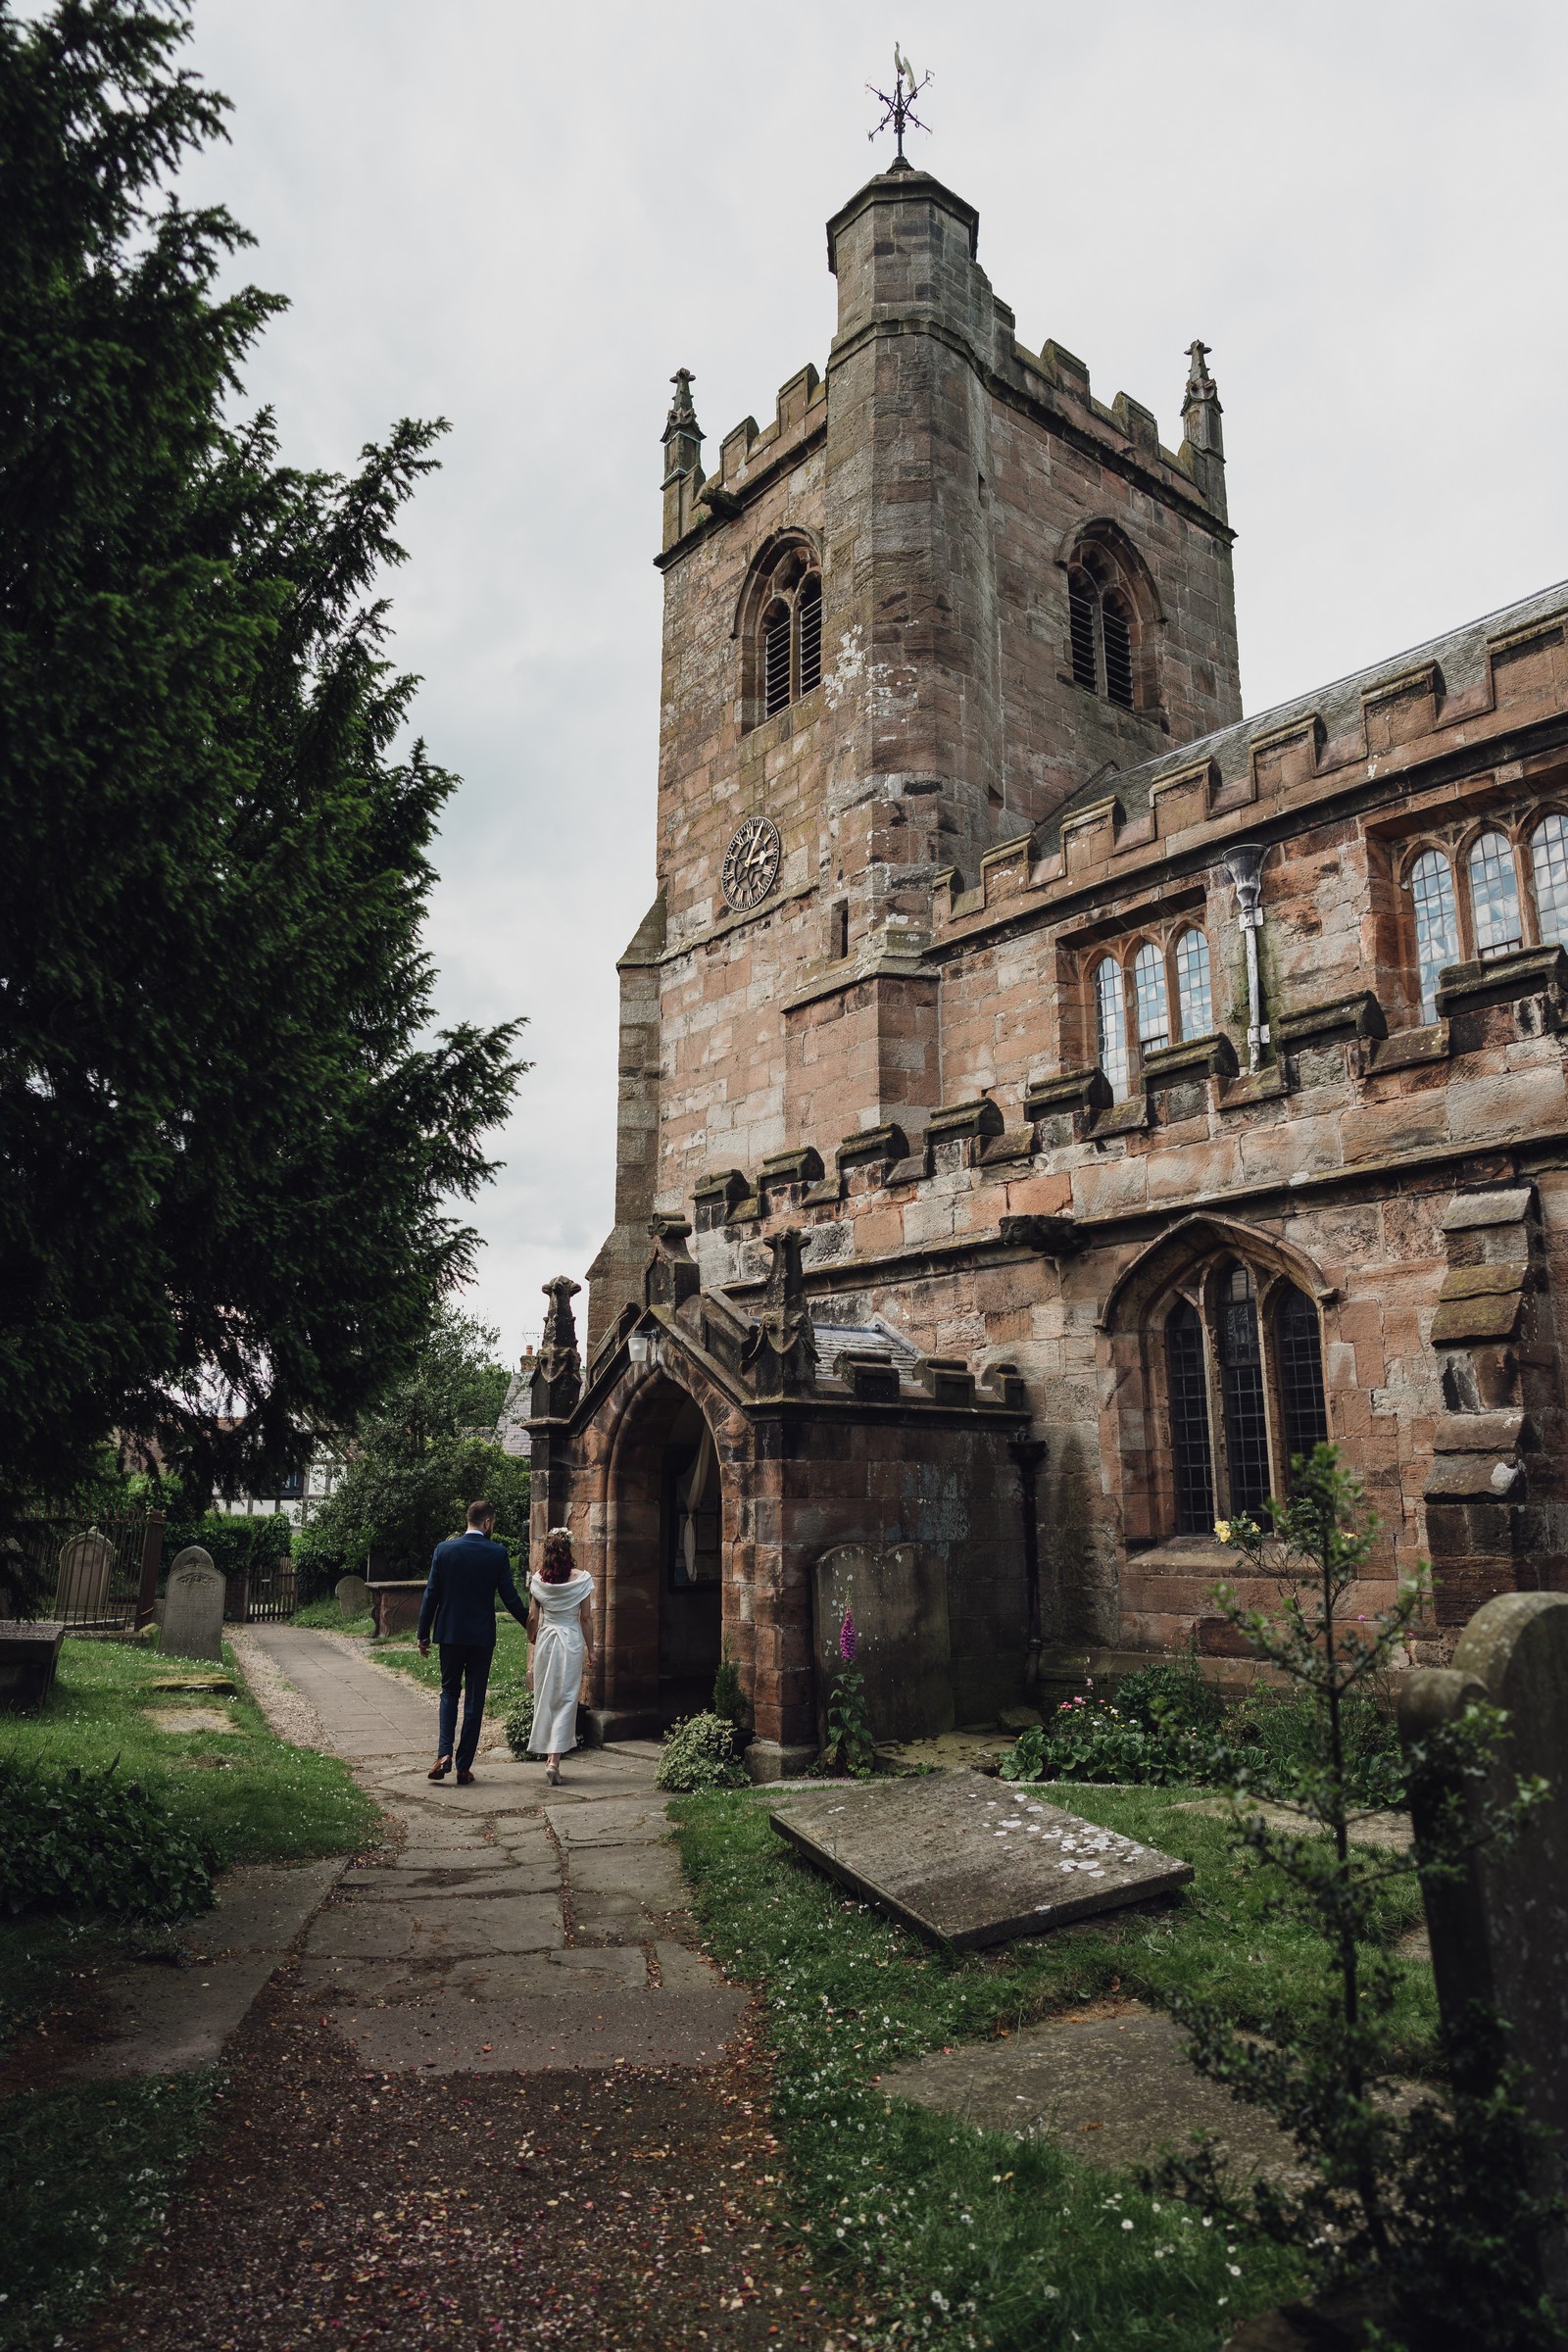
[[[212,2147],[80,2352],[853,2345],[778,2220],[750,1997],[698,1950],[654,1750],[571,1757],[559,1792],[496,1752],[430,1783],[430,1691],[254,1639],[395,1835],[322,1872]]]

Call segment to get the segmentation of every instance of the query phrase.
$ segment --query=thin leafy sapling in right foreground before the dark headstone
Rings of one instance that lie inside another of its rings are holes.
[[[1298,2246],[1347,2326],[1345,2343],[1387,2352],[1556,2345],[1563,2326],[1537,2267],[1537,2237],[1556,2206],[1530,2183],[1535,2147],[1500,2056],[1502,2023],[1474,2016],[1465,2046],[1448,2046],[1446,2098],[1410,2103],[1394,2065],[1396,1964],[1378,1936],[1392,1879],[1458,1877],[1479,1844],[1514,1835],[1542,1788],[1519,1783],[1507,1802],[1486,1792],[1505,1717],[1483,1700],[1408,1757],[1352,1752],[1356,1710],[1425,1613],[1429,1578],[1422,1571],[1392,1609],[1352,1618],[1378,1522],[1335,1446],[1316,1446],[1291,1470],[1291,1496],[1269,1503],[1269,1529],[1253,1519],[1218,1526],[1253,1576],[1279,1578],[1279,1611],[1246,1609],[1225,1585],[1215,1599],[1302,1700],[1309,1736],[1274,1752],[1241,1750],[1234,1795],[1241,1842],[1272,1879],[1274,1905],[1321,1940],[1321,1985],[1314,2002],[1262,2018],[1260,2032],[1239,2032],[1192,2002],[1178,2016],[1204,2072],[1291,2133],[1302,2185],[1239,2190],[1208,2152],[1171,2159],[1159,2185]],[[1366,1818],[1403,1804],[1410,1788],[1422,1790],[1413,1849],[1359,1842]],[[1248,1813],[1248,1799],[1288,1811]]]

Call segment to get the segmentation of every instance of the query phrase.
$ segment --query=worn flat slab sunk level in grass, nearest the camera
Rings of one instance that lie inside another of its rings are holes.
[[[1048,2138],[1088,2164],[1128,2166],[1204,2131],[1220,2161],[1300,2183],[1293,2143],[1187,2058],[1187,2034],[1138,2002],[1048,2018],[1006,2042],[933,2051],[889,2067],[879,2089],[957,2114],[976,2131]]]

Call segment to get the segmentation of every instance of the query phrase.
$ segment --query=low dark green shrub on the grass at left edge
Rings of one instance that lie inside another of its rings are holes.
[[[212,1903],[212,1851],[136,1780],[0,1757],[0,1912],[181,1919]]]

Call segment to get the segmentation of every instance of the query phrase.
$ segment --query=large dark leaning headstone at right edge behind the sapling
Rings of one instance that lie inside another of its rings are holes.
[[[1453,1665],[1406,1679],[1399,1698],[1406,1740],[1453,1719],[1481,1693],[1509,1717],[1493,1795],[1507,1799],[1514,1773],[1540,1776],[1549,1795],[1512,1844],[1474,1851],[1458,1882],[1425,1884],[1432,1973],[1450,2032],[1462,2027],[1472,2002],[1507,2020],[1521,2105],[1561,2136],[1568,2131],[1568,1592],[1500,1592],[1476,1609]],[[1544,2185],[1563,2185],[1561,2154]],[[1559,2305],[1568,2303],[1568,2232],[1559,2230],[1547,2249],[1547,2277]]]

